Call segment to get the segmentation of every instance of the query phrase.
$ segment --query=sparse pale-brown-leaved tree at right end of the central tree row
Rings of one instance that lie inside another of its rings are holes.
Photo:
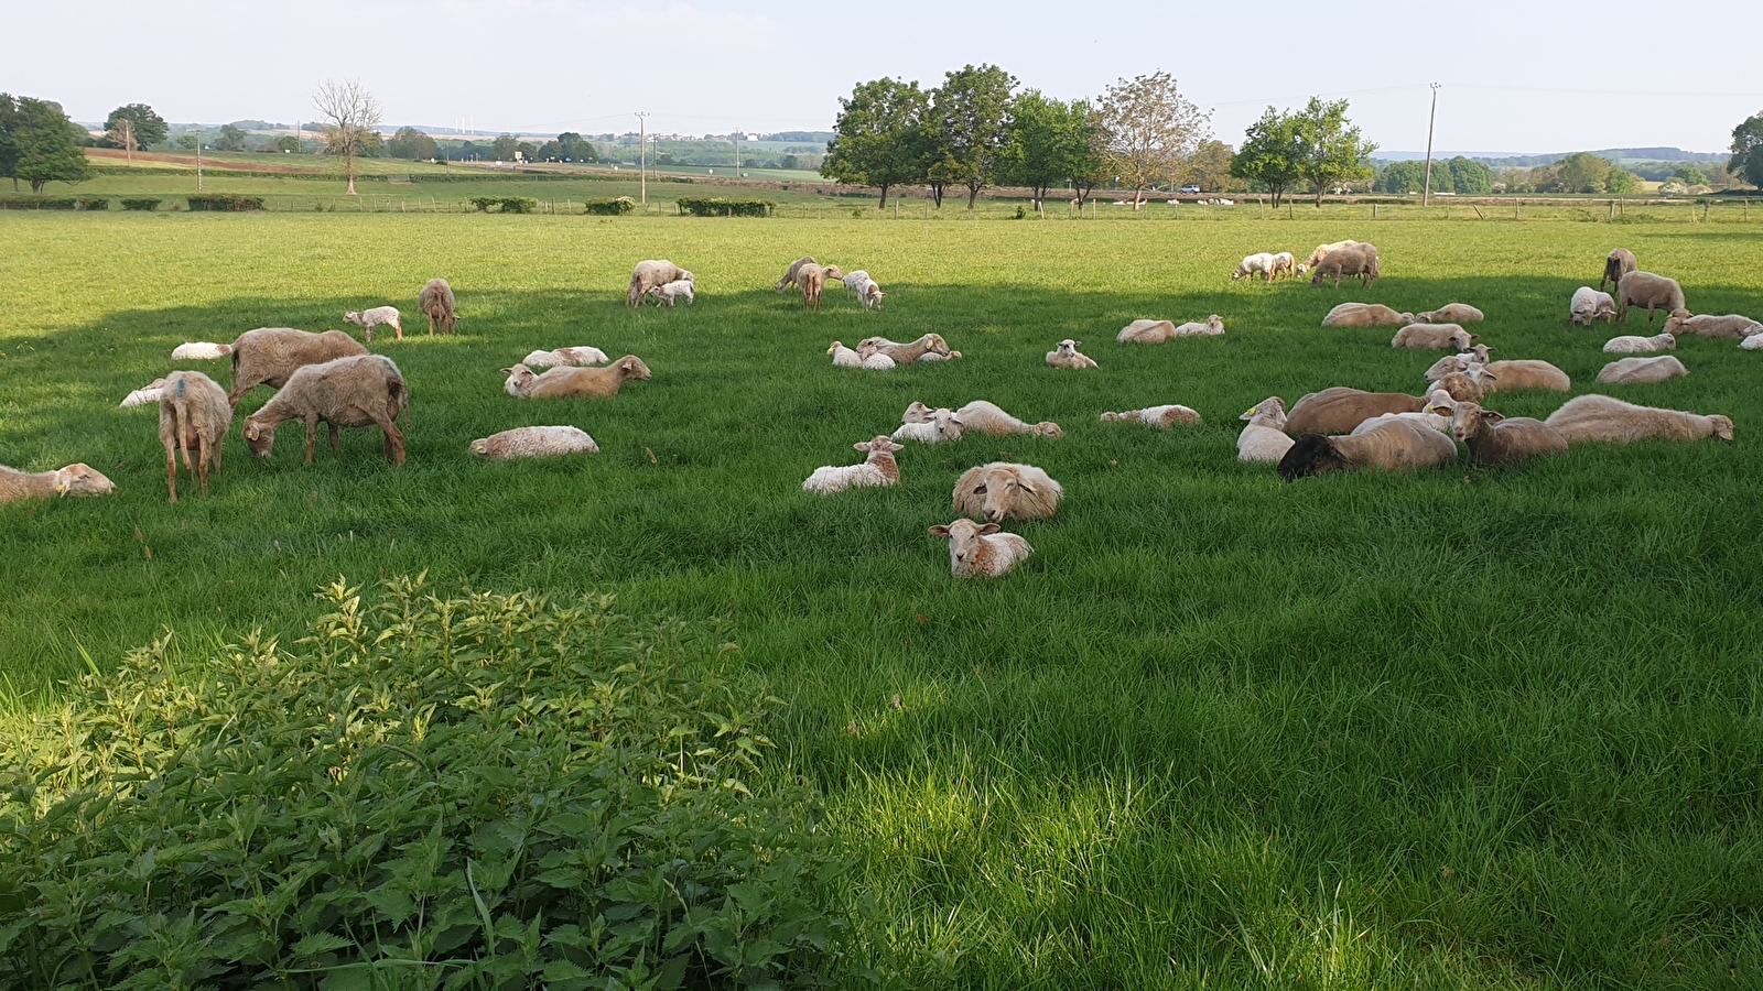
[[[1100,111],[1109,164],[1134,189],[1134,210],[1144,189],[1174,176],[1211,127],[1211,113],[1183,97],[1169,72],[1116,79],[1102,93]]]

